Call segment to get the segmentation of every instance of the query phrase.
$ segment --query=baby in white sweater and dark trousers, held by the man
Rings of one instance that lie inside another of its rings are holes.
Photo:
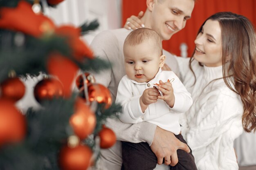
[[[179,113],[186,112],[193,101],[173,71],[162,71],[165,62],[162,40],[152,29],[132,31],[124,42],[126,75],[121,79],[116,102],[123,106],[119,119],[124,123],[142,121],[173,132],[180,141]],[[157,157],[146,142],[138,144],[122,141],[122,169],[154,169]],[[177,150],[179,163],[175,170],[196,170],[192,152]],[[171,162],[171,158],[165,160]]]

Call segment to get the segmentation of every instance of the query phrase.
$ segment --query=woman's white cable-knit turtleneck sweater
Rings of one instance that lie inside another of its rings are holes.
[[[243,104],[222,77],[222,66],[200,66],[193,61],[196,82],[189,59],[178,58],[181,78],[191,93],[193,105],[182,116],[182,135],[193,151],[198,170],[238,170],[234,139],[243,131]]]

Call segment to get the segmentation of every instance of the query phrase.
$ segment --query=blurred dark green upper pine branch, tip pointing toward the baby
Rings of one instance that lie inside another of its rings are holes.
[[[17,35],[18,33],[13,31],[0,30],[0,82],[8,77],[11,70],[23,77],[38,76],[39,72],[48,73],[47,58],[56,51],[68,57],[85,71],[99,72],[110,68],[110,63],[98,57],[94,59],[85,57],[83,62],[76,61],[71,55],[70,46],[65,38],[52,35],[38,39],[22,34],[24,44],[17,45],[15,42]]]

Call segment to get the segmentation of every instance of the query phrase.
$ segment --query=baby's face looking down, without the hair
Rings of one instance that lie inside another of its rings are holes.
[[[149,82],[159,70],[160,55],[153,40],[141,44],[124,46],[126,75],[136,82]]]

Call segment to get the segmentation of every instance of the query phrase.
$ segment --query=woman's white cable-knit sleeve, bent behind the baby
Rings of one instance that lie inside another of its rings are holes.
[[[243,130],[242,113],[243,106],[236,95],[222,92],[209,97],[194,117],[195,127],[190,126],[186,134],[189,146],[192,149],[206,147],[220,138],[223,144],[233,142]]]

